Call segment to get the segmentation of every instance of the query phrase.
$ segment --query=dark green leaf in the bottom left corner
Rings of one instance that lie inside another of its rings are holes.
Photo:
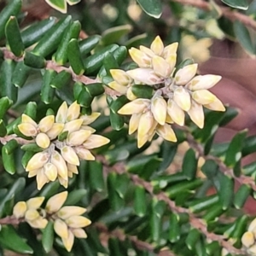
[[[3,225],[0,231],[0,244],[16,253],[32,254],[33,250],[26,242],[16,233],[16,230],[11,225]]]

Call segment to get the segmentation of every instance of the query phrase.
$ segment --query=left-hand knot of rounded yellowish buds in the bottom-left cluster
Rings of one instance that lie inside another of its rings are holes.
[[[44,229],[48,220],[42,214],[40,208],[44,202],[44,196],[34,197],[28,201],[19,201],[15,204],[13,215],[15,218],[24,218],[27,224],[35,229]]]

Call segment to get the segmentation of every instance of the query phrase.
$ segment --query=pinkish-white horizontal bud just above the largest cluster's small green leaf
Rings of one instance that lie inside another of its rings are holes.
[[[163,82],[163,79],[157,76],[151,68],[135,68],[128,70],[127,73],[132,79],[143,84],[154,85]]]

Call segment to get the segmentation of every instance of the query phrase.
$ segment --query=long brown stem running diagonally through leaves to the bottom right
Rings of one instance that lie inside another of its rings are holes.
[[[144,189],[148,191],[150,195],[156,197],[160,201],[165,201],[166,205],[170,208],[172,212],[176,213],[188,213],[189,214],[189,224],[197,230],[200,230],[203,235],[207,237],[209,241],[218,241],[218,243],[228,250],[230,253],[235,254],[243,254],[245,253],[242,249],[238,249],[234,247],[230,241],[225,241],[225,236],[216,235],[212,232],[207,230],[207,223],[201,219],[197,218],[193,212],[190,212],[188,208],[184,207],[177,207],[175,201],[172,201],[164,192],[160,192],[159,194],[154,194],[154,187],[151,183],[143,180],[142,178],[138,177],[137,175],[127,173],[125,171],[125,164],[124,163],[117,163],[114,166],[108,166],[108,161],[103,156],[97,156],[98,160],[102,161],[104,166],[105,172],[117,172],[119,174],[126,173],[131,178],[132,182],[137,185],[142,185]]]

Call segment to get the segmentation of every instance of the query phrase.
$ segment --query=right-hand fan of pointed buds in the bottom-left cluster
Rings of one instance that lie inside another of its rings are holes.
[[[54,222],[55,233],[61,237],[64,247],[70,252],[73,247],[74,237],[86,238],[83,230],[90,225],[90,219],[81,216],[86,212],[84,207],[64,206],[67,200],[67,191],[52,196],[47,201],[45,211]]]

